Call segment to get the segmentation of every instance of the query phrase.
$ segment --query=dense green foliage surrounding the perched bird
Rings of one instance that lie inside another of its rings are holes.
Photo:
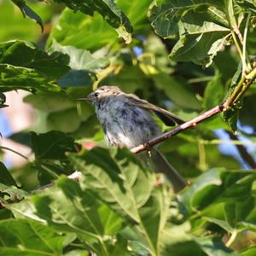
[[[0,162],[0,255],[253,255],[256,171],[218,148],[217,131],[255,143],[254,1],[8,2],[0,108],[5,92],[27,90],[40,121],[9,137],[34,159]],[[175,195],[137,155],[106,148],[92,106],[76,101],[100,84],[187,120],[228,99],[223,117],[160,144],[190,186]]]

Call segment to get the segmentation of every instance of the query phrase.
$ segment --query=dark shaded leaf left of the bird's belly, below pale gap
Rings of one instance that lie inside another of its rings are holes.
[[[43,159],[66,159],[66,152],[76,152],[77,148],[73,138],[61,131],[49,131],[42,134],[31,133],[32,149],[35,158]]]

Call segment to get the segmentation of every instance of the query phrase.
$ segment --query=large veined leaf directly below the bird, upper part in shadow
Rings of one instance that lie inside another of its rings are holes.
[[[93,148],[83,156],[70,156],[70,160],[83,172],[85,187],[97,189],[98,195],[113,209],[138,222],[138,207],[148,201],[153,176],[131,154],[123,153],[125,158],[122,161],[121,152],[113,160],[108,150]]]

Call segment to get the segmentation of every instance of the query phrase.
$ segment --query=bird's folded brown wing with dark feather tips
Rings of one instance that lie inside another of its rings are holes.
[[[173,126],[175,124],[182,125],[185,121],[179,118],[176,114],[167,111],[164,108],[159,108],[154,104],[151,104],[145,100],[140,99],[139,97],[133,94],[126,94],[127,98],[129,98],[129,104],[133,106],[137,106],[140,108],[145,108],[152,110],[164,123],[168,126]]]

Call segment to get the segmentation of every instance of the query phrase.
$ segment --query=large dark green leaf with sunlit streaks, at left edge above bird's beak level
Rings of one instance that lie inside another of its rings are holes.
[[[34,44],[23,41],[1,43],[0,49],[0,90],[61,90],[56,79],[70,69],[67,56],[47,55]]]

